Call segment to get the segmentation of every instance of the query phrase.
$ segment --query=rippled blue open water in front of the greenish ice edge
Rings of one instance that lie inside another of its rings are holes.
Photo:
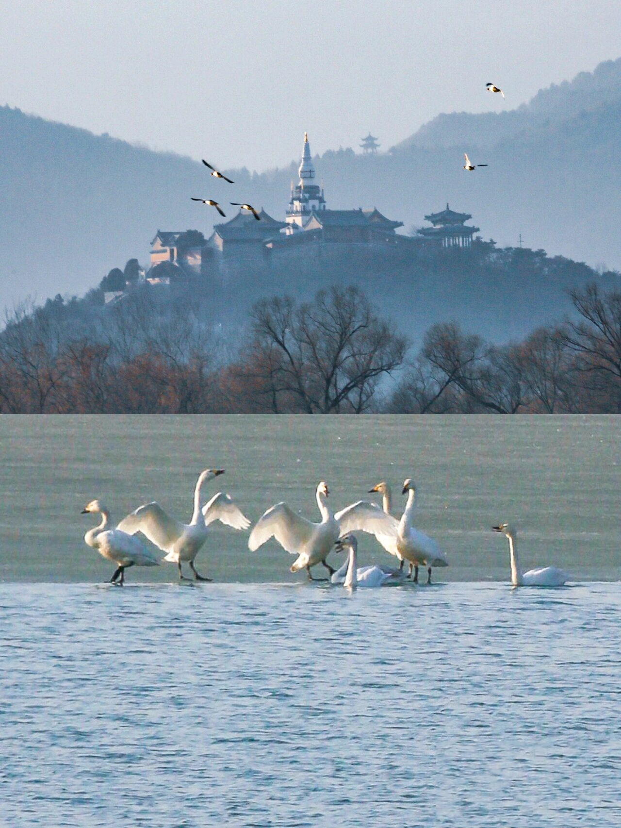
[[[618,584],[0,586],[8,826],[615,826]]]

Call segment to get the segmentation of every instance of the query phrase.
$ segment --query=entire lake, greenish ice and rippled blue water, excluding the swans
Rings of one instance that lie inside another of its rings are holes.
[[[0,824],[621,824],[619,418],[2,416],[0,439]],[[188,519],[205,466],[253,521],[315,516],[320,479],[334,508],[388,479],[397,511],[412,476],[450,566],[349,594],[220,527],[214,584],[104,584],[84,504]],[[513,590],[504,520],[571,585]]]

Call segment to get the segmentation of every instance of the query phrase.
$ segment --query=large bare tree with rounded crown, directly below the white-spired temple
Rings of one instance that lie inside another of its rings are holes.
[[[379,380],[407,352],[405,337],[356,287],[319,291],[300,306],[289,297],[262,300],[251,320],[252,362],[273,410],[290,397],[309,414],[367,411]]]

